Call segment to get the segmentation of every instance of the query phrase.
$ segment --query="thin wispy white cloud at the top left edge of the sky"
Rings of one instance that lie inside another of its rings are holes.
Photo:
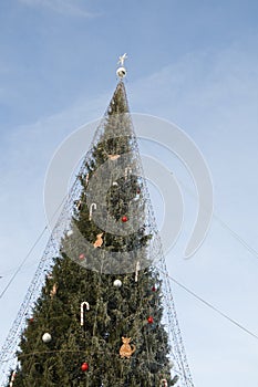
[[[82,6],[71,0],[20,0],[20,2],[29,7],[47,8],[53,12],[71,17],[96,17],[95,13],[86,11]]]

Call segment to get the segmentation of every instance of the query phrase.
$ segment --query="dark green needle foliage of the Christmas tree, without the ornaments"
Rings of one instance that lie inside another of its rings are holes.
[[[137,231],[126,236],[114,236],[90,219],[86,202],[85,176],[91,178],[109,155],[132,151],[128,167],[134,166],[132,149],[133,132],[127,116],[127,103],[122,84],[118,84],[104,121],[104,132],[92,151],[91,160],[85,163],[84,172],[79,176],[82,192],[74,203],[71,228],[91,244],[102,233],[103,243],[95,251],[134,252],[141,249],[141,259],[148,262],[145,247],[152,236],[146,233],[145,201],[142,181],[136,176],[118,177],[103,199],[109,213],[115,222],[128,213],[128,207],[138,196],[134,211],[141,224]],[[101,187],[100,187],[101,188]],[[95,195],[97,196],[99,189]],[[80,262],[82,247],[76,237],[64,236],[60,257],[54,259],[51,273],[45,276],[41,296],[33,308],[33,321],[28,320],[18,353],[19,367],[13,387],[157,387],[166,378],[174,385],[168,362],[169,347],[167,334],[162,323],[162,282],[155,268],[145,265],[135,272],[124,274],[101,274],[83,268]],[[74,257],[71,259],[71,253]],[[85,251],[89,262],[91,252]],[[132,254],[132,260],[133,260]],[[120,264],[125,264],[120,262]],[[135,262],[133,262],[135,268]],[[114,286],[115,280],[122,286]],[[81,326],[81,303],[87,302]],[[153,317],[153,323],[148,317]],[[42,335],[51,334],[51,342],[43,343]],[[120,356],[122,336],[131,337],[136,351],[130,358]],[[89,364],[83,372],[81,365]]]

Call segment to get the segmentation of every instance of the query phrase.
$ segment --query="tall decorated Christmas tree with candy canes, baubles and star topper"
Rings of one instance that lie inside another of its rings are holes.
[[[60,218],[58,252],[44,278],[39,269],[41,293],[33,305],[27,303],[31,310],[8,386],[193,386],[178,332],[171,346],[165,325],[159,239],[128,113],[123,56],[121,64]],[[171,318],[178,330],[174,310]]]

